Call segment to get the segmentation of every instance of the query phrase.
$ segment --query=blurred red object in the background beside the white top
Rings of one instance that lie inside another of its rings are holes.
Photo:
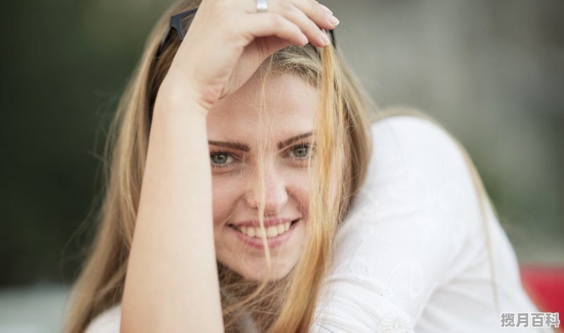
[[[521,282],[541,312],[558,313],[564,332],[564,267],[521,266]]]

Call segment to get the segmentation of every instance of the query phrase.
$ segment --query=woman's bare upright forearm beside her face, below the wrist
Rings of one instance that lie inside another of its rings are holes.
[[[223,331],[206,112],[187,96],[155,103],[121,332]]]

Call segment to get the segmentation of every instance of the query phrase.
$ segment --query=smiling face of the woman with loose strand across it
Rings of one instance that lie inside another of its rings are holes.
[[[247,279],[258,281],[266,273],[258,220],[259,168],[265,175],[264,227],[271,253],[270,279],[288,275],[305,249],[307,158],[312,152],[309,144],[317,99],[317,90],[298,77],[273,76],[264,91],[266,112],[261,122],[261,82],[255,73],[209,111],[216,256]]]

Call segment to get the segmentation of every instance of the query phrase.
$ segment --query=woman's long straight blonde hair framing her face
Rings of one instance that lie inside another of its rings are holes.
[[[149,114],[180,41],[173,39],[159,58],[155,56],[168,18],[199,3],[182,1],[161,16],[118,104],[104,146],[104,161],[109,163],[104,169],[104,201],[96,216],[99,228],[71,292],[73,306],[65,332],[83,332],[97,315],[121,301],[147,157]],[[251,313],[253,325],[261,332],[308,332],[329,267],[333,235],[366,176],[372,151],[369,107],[374,106],[343,57],[331,46],[289,46],[269,57],[259,71],[263,89],[269,76],[289,73],[319,90],[316,157],[308,168],[316,177],[310,188],[308,241],[298,264],[280,282],[266,278],[259,284],[245,282],[218,263],[225,329],[245,329],[248,326],[241,318]],[[462,146],[460,149],[464,151]],[[470,158],[467,162],[479,193],[487,196]],[[336,184],[331,181],[335,177]],[[329,197],[331,184],[336,185],[335,204]],[[264,198],[259,210],[261,221],[262,213]],[[268,246],[265,252],[268,263]]]

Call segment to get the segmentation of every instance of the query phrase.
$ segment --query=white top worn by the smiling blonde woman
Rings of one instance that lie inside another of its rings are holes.
[[[496,308],[477,191],[462,153],[429,120],[372,125],[367,180],[338,231],[312,332],[551,332],[501,327],[501,313],[539,312],[487,206]],[[86,333],[118,333],[121,308]]]

